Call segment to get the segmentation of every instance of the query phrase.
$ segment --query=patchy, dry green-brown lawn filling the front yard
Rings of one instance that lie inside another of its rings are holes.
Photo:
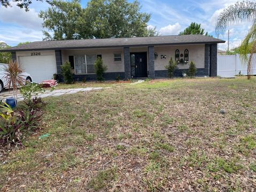
[[[255,98],[256,78],[245,77],[115,84],[46,98],[42,129],[23,148],[1,152],[0,188],[253,191]]]

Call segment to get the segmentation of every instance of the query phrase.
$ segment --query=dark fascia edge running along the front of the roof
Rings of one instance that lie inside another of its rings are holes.
[[[81,47],[51,47],[38,49],[6,49],[0,52],[16,52],[16,51],[45,51],[45,50],[69,50],[69,49],[107,49],[107,48],[121,48],[121,47],[140,47],[140,46],[166,46],[166,45],[186,45],[186,44],[215,44],[225,43],[226,41],[218,42],[186,42],[186,43],[159,43],[159,44],[137,44],[137,45],[110,45],[110,46],[81,46]]]

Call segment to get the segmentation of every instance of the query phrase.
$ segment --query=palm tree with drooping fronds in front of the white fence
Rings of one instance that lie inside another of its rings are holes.
[[[215,31],[217,34],[224,34],[227,26],[242,21],[252,21],[252,26],[239,47],[240,58],[248,62],[247,78],[250,79],[252,75],[252,53],[256,51],[256,3],[243,1],[228,6],[219,15]],[[249,57],[248,53],[250,53]]]

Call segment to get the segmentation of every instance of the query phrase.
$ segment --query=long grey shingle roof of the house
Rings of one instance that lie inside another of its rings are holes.
[[[10,47],[0,51],[32,51],[59,49],[88,49],[127,46],[157,46],[179,44],[225,43],[225,41],[205,35],[170,35],[155,37],[82,39],[65,41],[38,41],[25,45]]]

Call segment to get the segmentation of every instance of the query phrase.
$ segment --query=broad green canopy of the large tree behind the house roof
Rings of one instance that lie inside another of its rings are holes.
[[[78,0],[53,0],[52,7],[39,17],[46,29],[45,40],[157,35],[155,28],[147,28],[151,14],[140,10],[137,0],[91,0],[85,8]]]

